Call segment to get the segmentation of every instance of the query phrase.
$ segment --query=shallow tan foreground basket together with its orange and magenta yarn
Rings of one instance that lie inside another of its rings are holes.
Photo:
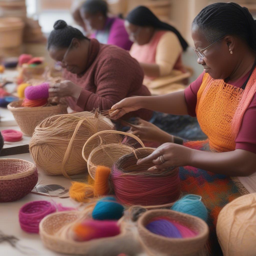
[[[138,255],[141,245],[134,234],[119,228],[116,221],[93,220],[90,213],[79,211],[56,212],[46,216],[39,225],[39,234],[44,245],[56,252],[103,256]]]

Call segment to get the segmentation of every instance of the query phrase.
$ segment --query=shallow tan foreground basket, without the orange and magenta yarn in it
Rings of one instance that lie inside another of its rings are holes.
[[[59,234],[66,225],[82,217],[79,211],[56,212],[46,216],[39,225],[40,237],[48,249],[60,253],[84,256],[113,256],[125,253],[137,255],[141,246],[133,234],[123,229],[115,237],[94,239],[86,242],[76,242]]]

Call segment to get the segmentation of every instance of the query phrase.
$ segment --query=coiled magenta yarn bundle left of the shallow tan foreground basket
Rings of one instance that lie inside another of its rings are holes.
[[[19,210],[19,224],[28,233],[39,232],[39,222],[48,214],[56,212],[56,207],[48,201],[33,201]]]

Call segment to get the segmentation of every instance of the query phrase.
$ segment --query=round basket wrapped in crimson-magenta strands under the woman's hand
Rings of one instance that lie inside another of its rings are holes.
[[[125,205],[157,206],[171,204],[180,196],[179,169],[169,167],[148,172],[149,161],[137,165],[139,158],[154,152],[154,148],[138,148],[120,157],[113,165],[111,187],[116,198]]]

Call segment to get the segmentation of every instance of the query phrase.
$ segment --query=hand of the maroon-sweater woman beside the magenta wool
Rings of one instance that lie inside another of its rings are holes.
[[[62,98],[71,96],[78,100],[82,88],[69,80],[64,80],[59,83],[50,83],[49,97]]]

